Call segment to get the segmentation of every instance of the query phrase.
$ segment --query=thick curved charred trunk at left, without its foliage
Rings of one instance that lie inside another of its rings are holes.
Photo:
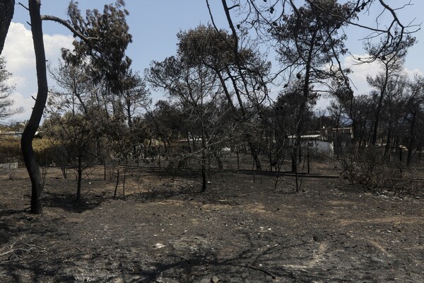
[[[46,56],[45,47],[42,38],[42,21],[40,16],[40,0],[28,0],[30,18],[31,18],[31,32],[33,33],[34,51],[35,51],[35,63],[37,69],[37,99],[33,107],[28,125],[25,127],[22,139],[20,140],[20,147],[22,149],[23,160],[25,161],[25,167],[27,168],[28,174],[31,180],[31,213],[41,214],[41,192],[42,192],[42,180],[40,174],[40,168],[38,167],[37,161],[35,160],[33,151],[33,138],[35,132],[40,125],[42,113],[45,109],[47,100],[47,71],[46,71]]]

